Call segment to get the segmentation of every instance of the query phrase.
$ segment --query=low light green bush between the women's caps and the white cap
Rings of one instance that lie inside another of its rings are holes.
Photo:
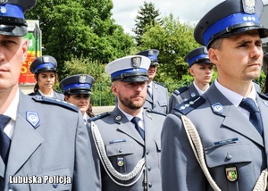
[[[74,74],[89,74],[95,79],[91,91],[91,100],[94,106],[113,105],[115,96],[111,91],[111,79],[105,73],[105,65],[98,61],[90,61],[83,58],[71,58],[71,61],[65,62],[63,72],[67,76]],[[65,76],[65,78],[67,77]]]

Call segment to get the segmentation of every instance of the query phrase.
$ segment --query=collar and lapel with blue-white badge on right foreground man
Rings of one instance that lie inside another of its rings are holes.
[[[222,115],[222,125],[228,129],[236,131],[237,133],[251,139],[255,143],[264,146],[264,140],[261,135],[257,132],[252,123],[245,118],[239,109],[230,103],[230,101],[222,95],[222,93],[213,84],[207,92],[204,94],[208,102],[211,105],[211,109],[214,114]],[[222,111],[217,112],[215,105],[218,108],[222,108]]]

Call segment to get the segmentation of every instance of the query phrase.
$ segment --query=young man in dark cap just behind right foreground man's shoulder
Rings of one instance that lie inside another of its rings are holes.
[[[194,81],[188,87],[180,87],[170,96],[169,112],[172,108],[191,97],[202,95],[209,87],[213,77],[214,64],[210,62],[205,46],[198,47],[184,57],[188,62],[188,71],[194,77]]]

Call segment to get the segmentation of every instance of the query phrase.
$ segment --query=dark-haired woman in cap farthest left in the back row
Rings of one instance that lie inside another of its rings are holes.
[[[34,60],[29,71],[35,74],[37,83],[29,95],[44,95],[64,100],[64,95],[54,89],[57,82],[57,61],[51,55],[43,55]]]

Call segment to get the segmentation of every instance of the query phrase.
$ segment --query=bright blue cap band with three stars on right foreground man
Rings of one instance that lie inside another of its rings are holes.
[[[222,20],[215,22],[208,29],[206,29],[203,35],[205,46],[207,46],[211,37],[213,37],[215,34],[221,31],[227,30],[227,28],[232,25],[242,24],[245,22],[254,22],[258,25],[260,24],[259,18],[256,14],[247,14],[245,12],[231,14],[230,16],[225,17]]]

